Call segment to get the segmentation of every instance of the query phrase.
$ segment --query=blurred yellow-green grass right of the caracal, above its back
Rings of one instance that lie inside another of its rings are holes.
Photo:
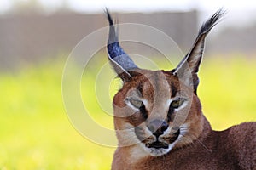
[[[256,58],[212,56],[199,72],[198,95],[213,129],[256,121]]]

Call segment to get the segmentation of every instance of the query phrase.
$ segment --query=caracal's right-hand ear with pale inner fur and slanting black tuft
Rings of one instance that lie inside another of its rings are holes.
[[[201,26],[198,36],[195,39],[195,43],[189,53],[177,65],[177,68],[172,71],[173,74],[177,74],[179,79],[185,82],[186,85],[193,86],[195,94],[199,84],[197,72],[199,70],[205,48],[205,38],[209,31],[211,31],[212,27],[218,24],[219,19],[224,15],[224,13],[225,12],[222,8],[220,8]]]

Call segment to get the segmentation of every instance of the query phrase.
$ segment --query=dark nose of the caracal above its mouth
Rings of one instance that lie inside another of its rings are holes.
[[[163,134],[168,128],[168,123],[166,121],[154,120],[148,123],[148,129],[156,136],[157,138]]]

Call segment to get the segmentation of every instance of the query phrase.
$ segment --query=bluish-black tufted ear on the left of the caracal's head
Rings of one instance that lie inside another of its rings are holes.
[[[109,35],[108,35],[108,59],[113,65],[114,71],[119,75],[123,81],[131,79],[133,70],[138,69],[137,65],[131,60],[128,54],[125,53],[123,48],[119,46],[118,32],[115,29],[111,15],[108,9],[105,10],[109,22]]]

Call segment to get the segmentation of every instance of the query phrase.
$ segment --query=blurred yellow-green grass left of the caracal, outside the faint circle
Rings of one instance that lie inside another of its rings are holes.
[[[109,169],[113,148],[84,139],[67,119],[63,66],[0,75],[0,169]]]

